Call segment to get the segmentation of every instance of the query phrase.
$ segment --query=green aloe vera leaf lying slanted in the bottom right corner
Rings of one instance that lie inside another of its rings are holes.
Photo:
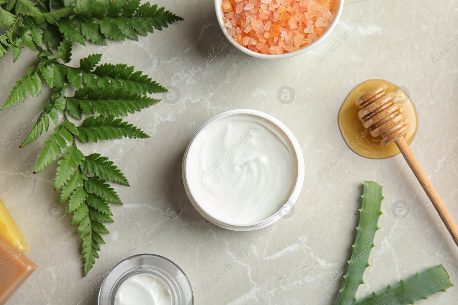
[[[428,299],[438,291],[452,287],[450,276],[442,265],[416,273],[398,284],[390,285],[378,292],[356,300],[353,305],[407,305],[418,300]]]

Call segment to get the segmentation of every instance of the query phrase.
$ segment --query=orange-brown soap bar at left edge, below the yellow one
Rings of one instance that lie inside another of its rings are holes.
[[[0,305],[6,303],[36,268],[37,265],[0,234]]]

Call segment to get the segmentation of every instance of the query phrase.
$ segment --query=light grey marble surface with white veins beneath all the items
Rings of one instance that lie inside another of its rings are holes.
[[[401,155],[369,160],[352,152],[321,179],[317,175],[345,147],[337,124],[345,96],[364,80],[384,78],[409,88],[419,114],[411,148],[458,220],[457,162],[449,161],[442,173],[434,174],[442,162],[458,157],[458,46],[443,52],[442,58],[436,55],[452,40],[458,43],[458,1],[345,1],[340,21],[327,39],[301,56],[281,61],[248,58],[230,44],[208,61],[208,52],[225,41],[213,1],[155,2],[185,21],[140,37],[139,42],[115,43],[102,61],[134,65],[162,85],[177,87],[181,99],[127,117],[150,139],[136,139],[119,153],[114,150],[121,140],[80,145],[85,154],[98,151],[113,157],[131,183],[114,186],[124,206],[112,207],[111,234],[105,236],[100,259],[87,277],[82,276],[81,243],[71,217],[53,219],[48,214],[59,198],[53,191],[55,166],[32,173],[46,136],[21,150],[15,144],[0,156],[0,197],[30,245],[27,256],[38,265],[7,305],[96,304],[103,275],[129,255],[137,241],[141,246],[134,253],[168,257],[185,271],[196,304],[334,304],[342,278],[334,280],[333,275],[351,253],[364,180],[380,183],[386,198],[379,220],[382,229],[358,297],[440,263],[458,272],[457,246]],[[342,41],[339,35],[365,12],[370,17]],[[336,40],[342,45],[320,64],[321,52]],[[73,58],[97,51],[98,46],[76,44]],[[0,61],[3,99],[34,63],[36,54],[30,51],[15,64],[11,56]],[[77,65],[76,60],[71,64]],[[278,102],[281,86],[294,89],[294,102]],[[1,146],[21,128],[32,128],[49,91],[0,112]],[[294,216],[259,231],[234,232],[209,223],[187,200],[181,179],[183,153],[196,129],[214,115],[237,108],[280,119],[304,153],[304,193]],[[404,219],[391,212],[398,200],[410,207]],[[169,201],[181,204],[178,219],[161,212]],[[207,281],[250,242],[256,246],[248,255],[213,288],[205,289],[211,287]],[[452,281],[458,284],[457,277]],[[418,304],[456,304],[457,299],[458,289],[453,287]]]

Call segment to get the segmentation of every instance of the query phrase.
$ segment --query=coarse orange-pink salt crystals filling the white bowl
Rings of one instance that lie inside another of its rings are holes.
[[[254,52],[293,52],[319,37],[333,20],[335,0],[223,0],[224,25]]]

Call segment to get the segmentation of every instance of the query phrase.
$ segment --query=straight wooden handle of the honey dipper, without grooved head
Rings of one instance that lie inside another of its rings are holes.
[[[398,148],[403,154],[404,159],[407,161],[410,168],[414,172],[421,186],[425,190],[426,195],[428,195],[428,197],[430,198],[432,204],[436,208],[437,213],[439,213],[439,216],[441,216],[442,221],[444,222],[445,226],[450,232],[450,235],[452,235],[453,240],[458,246],[458,227],[455,221],[453,220],[452,215],[450,215],[450,213],[448,212],[447,207],[442,202],[441,197],[439,197],[439,194],[433,187],[428,176],[426,176],[426,173],[421,167],[417,158],[415,158],[414,153],[412,152],[412,150],[410,150],[409,144],[407,144],[406,140],[402,136],[396,140],[396,144],[398,145]]]

